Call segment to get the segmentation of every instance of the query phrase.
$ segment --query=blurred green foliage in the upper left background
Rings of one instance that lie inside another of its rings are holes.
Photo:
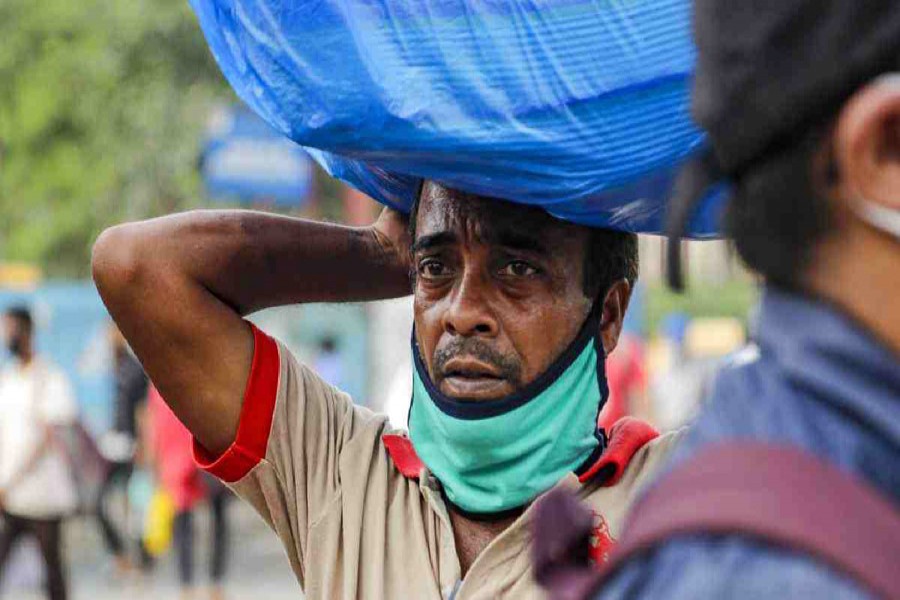
[[[185,0],[3,0],[0,40],[0,260],[83,276],[107,225],[198,202],[232,95]]]

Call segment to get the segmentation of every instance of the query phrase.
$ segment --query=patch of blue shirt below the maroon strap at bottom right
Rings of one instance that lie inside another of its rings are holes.
[[[595,600],[866,600],[855,581],[788,549],[738,536],[673,539],[622,567]]]

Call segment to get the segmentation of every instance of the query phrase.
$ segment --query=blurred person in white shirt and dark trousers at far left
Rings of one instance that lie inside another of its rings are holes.
[[[73,424],[78,407],[66,376],[35,353],[27,308],[4,313],[3,334],[12,361],[0,371],[0,571],[16,542],[31,536],[44,560],[47,597],[64,600],[62,526],[78,499],[54,428]]]

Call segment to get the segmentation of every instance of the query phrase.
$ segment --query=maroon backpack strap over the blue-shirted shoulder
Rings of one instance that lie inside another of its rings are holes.
[[[695,534],[756,538],[813,556],[882,598],[900,594],[897,507],[870,484],[797,448],[752,442],[703,448],[637,503],[603,579],[635,555]]]

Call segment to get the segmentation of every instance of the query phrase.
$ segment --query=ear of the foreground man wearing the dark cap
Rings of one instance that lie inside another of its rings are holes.
[[[834,158],[838,196],[900,211],[900,74],[857,91],[838,116]]]

